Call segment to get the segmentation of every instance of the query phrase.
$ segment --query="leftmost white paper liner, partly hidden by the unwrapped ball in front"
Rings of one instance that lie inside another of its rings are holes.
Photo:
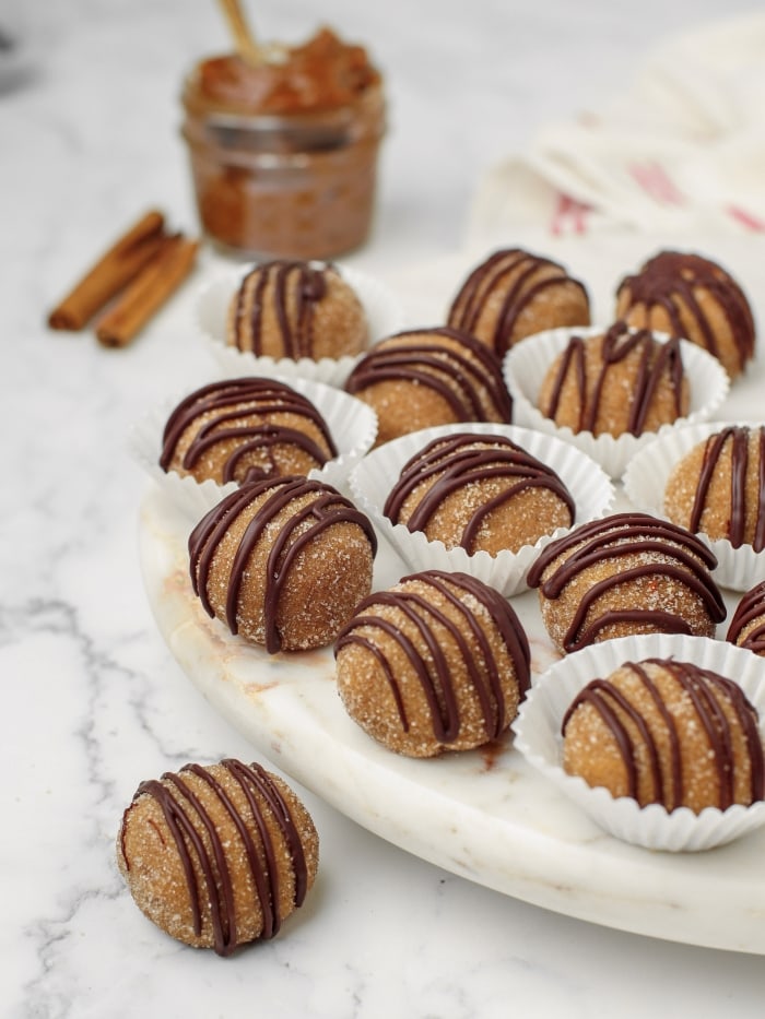
[[[291,386],[309,400],[323,416],[338,449],[338,455],[322,467],[309,471],[308,477],[317,478],[341,491],[346,491],[349,474],[372,449],[377,437],[375,412],[355,396],[323,382],[310,379],[287,379],[276,375],[268,377]],[[213,506],[216,506],[225,495],[236,489],[237,484],[236,482],[228,482],[225,485],[219,485],[213,481],[198,482],[193,477],[181,476],[175,471],[163,471],[160,466],[162,433],[172,411],[185,395],[184,393],[175,399],[167,399],[148,413],[133,425],[129,442],[134,459],[149,476],[162,486],[179,509],[198,520]]]

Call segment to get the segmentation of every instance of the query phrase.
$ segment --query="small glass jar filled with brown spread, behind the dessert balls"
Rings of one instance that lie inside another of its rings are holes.
[[[275,66],[282,78],[285,62]],[[284,90],[274,100],[273,90],[266,97],[255,90],[256,98],[248,88],[248,100],[262,107],[250,112],[238,92],[211,95],[212,63],[191,72],[183,94],[183,135],[207,237],[228,253],[267,258],[328,259],[362,245],[385,133],[379,75],[327,108],[310,108],[317,86],[298,102]]]

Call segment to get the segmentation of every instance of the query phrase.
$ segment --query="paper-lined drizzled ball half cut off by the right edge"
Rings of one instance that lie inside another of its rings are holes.
[[[765,427],[731,425],[675,464],[664,489],[675,523],[733,548],[765,548]]]

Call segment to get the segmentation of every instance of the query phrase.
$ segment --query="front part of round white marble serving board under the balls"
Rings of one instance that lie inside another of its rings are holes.
[[[256,755],[369,831],[503,894],[623,931],[765,955],[765,829],[704,853],[652,853],[600,831],[510,735],[434,760],[391,754],[345,713],[330,650],[270,656],[204,614],[188,576],[189,528],[158,488],[148,493],[140,555],[149,601],[181,668]],[[404,572],[382,543],[375,585]],[[557,655],[536,592],[513,605],[539,674]]]

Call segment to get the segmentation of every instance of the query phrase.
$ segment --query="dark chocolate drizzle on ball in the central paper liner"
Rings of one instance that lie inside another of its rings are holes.
[[[459,544],[471,554],[486,518],[499,506],[530,488],[545,488],[554,493],[568,508],[570,523],[574,522],[574,500],[553,470],[505,436],[470,433],[434,439],[412,457],[402,467],[386,500],[382,510],[385,516],[397,523],[407,499],[417,486],[434,476],[437,477],[436,482],[407,521],[410,531],[424,531],[444,499],[455,491],[491,478],[506,482],[503,490],[481,502],[466,523]]]

